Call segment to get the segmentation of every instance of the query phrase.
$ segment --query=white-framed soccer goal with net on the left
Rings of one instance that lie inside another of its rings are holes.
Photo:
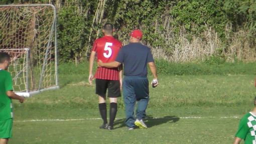
[[[0,5],[0,52],[11,56],[13,89],[29,97],[58,89],[57,17],[53,5]]]

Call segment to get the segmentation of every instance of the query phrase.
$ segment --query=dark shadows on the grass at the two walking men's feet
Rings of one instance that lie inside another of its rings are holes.
[[[158,118],[149,115],[144,119],[144,121],[148,127],[153,127],[153,126],[160,125],[163,123],[175,123],[179,120],[180,120],[180,118],[177,116],[174,116],[174,115],[158,117]],[[124,121],[125,121],[125,118],[115,120],[114,125],[119,125],[119,126],[116,126],[115,128],[125,127],[126,125],[125,125]]]

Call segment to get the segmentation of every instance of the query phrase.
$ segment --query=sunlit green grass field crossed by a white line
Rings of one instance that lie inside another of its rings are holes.
[[[250,72],[244,73],[246,68]],[[26,98],[23,104],[13,100],[9,143],[232,143],[256,96],[251,64],[235,74],[161,74],[159,86],[150,87],[149,128],[126,130],[120,98],[116,129],[109,131],[98,128],[102,120],[87,69],[87,63],[62,64],[60,89]]]

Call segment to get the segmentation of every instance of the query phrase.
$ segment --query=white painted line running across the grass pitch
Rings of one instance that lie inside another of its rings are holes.
[[[209,117],[201,117],[201,116],[192,116],[192,117],[149,117],[145,119],[173,119],[173,118],[181,118],[181,119],[193,119],[193,118],[240,118],[239,116],[209,116]],[[32,120],[15,120],[14,122],[37,122],[37,121],[75,121],[75,120],[97,120],[101,118],[80,118],[80,119],[32,119]],[[124,118],[115,118],[115,119],[124,119]]]

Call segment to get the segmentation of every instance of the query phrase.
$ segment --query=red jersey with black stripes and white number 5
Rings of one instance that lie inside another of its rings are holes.
[[[112,36],[104,36],[94,41],[91,51],[96,52],[97,60],[107,63],[115,60],[121,47],[121,42]],[[94,77],[97,79],[119,80],[118,68],[97,68]]]

